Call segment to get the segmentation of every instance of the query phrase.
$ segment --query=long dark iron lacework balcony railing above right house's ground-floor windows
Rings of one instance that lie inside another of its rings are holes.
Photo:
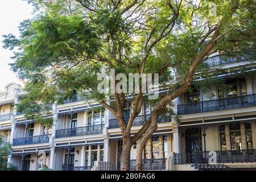
[[[256,106],[256,94],[177,105],[178,115]]]

